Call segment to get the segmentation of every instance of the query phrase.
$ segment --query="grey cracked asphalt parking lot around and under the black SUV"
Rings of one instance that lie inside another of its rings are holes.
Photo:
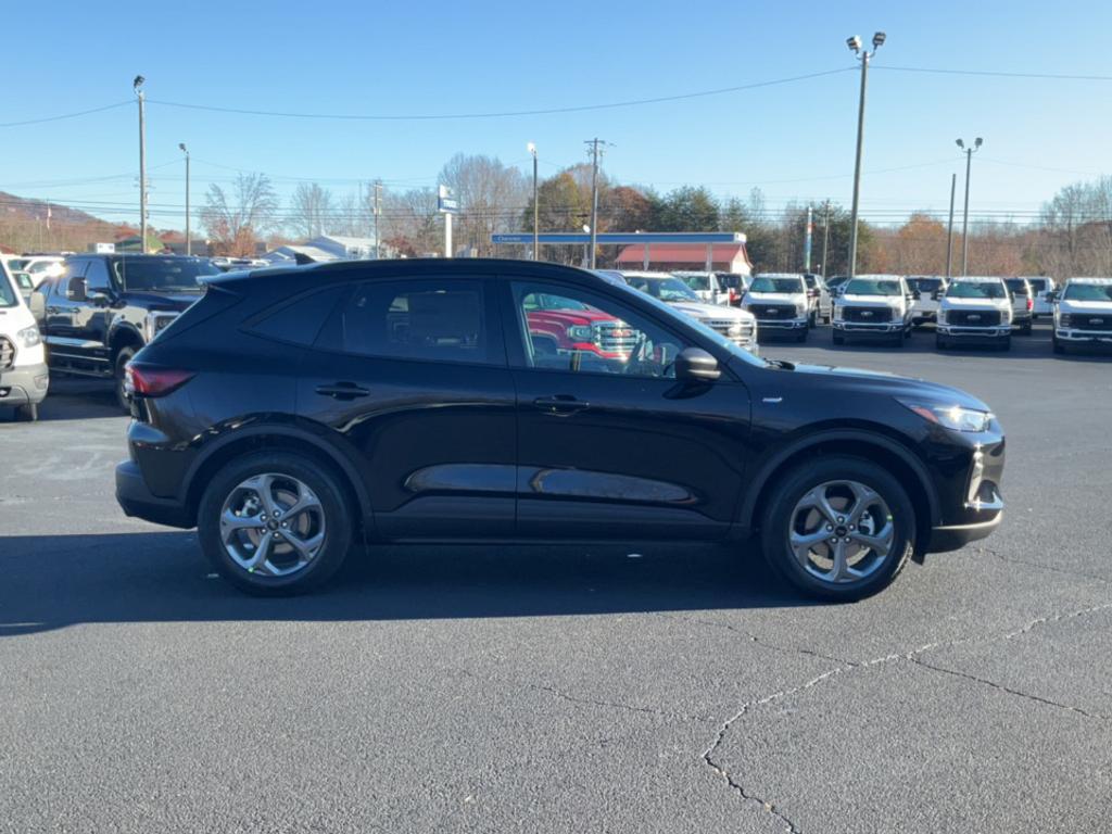
[[[990,539],[804,603],[725,547],[395,547],[254,599],[125,518],[111,391],[0,416],[0,830],[1096,831],[1112,358],[768,345],[1007,433]]]

